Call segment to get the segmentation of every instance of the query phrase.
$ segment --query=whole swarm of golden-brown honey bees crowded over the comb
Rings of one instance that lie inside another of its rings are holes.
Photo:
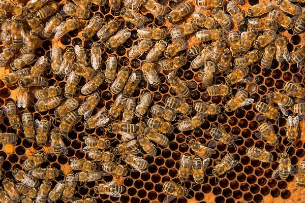
[[[260,62],[263,69],[270,68],[274,57],[278,62],[286,60],[291,64],[304,63],[305,46],[289,53],[287,39],[277,32],[279,27],[292,29],[296,34],[305,29],[305,13],[302,13],[299,6],[291,3],[302,2],[301,0],[278,0],[276,4],[260,3],[250,7],[246,15],[240,10],[240,5],[244,4],[242,0],[174,2],[176,6],[170,11],[154,0],[72,0],[66,2],[60,12],[57,12],[58,4],[48,0],[29,0],[26,5],[9,0],[0,1],[0,40],[3,43],[0,65],[11,72],[2,80],[7,85],[18,86],[16,101],[8,100],[2,106],[1,115],[4,113],[17,132],[21,133],[22,130],[26,140],[37,142],[39,147],[50,142],[49,154],[38,152],[31,157],[24,156],[22,169],[16,168],[13,172],[15,179],[4,178],[3,190],[0,191],[1,202],[33,202],[34,198],[36,202],[53,202],[59,198],[74,202],[95,202],[94,198],[73,197],[77,181],[100,181],[107,175],[125,177],[128,174],[127,165],[144,173],[148,162],[137,155],[141,152],[139,148],[144,154],[156,156],[157,145],[169,146],[166,134],[172,133],[175,127],[179,131],[194,130],[205,122],[208,115],[232,112],[254,102],[253,98],[248,98],[249,92],[240,88],[224,107],[202,101],[190,105],[186,98],[190,97],[191,89],[195,89],[198,83],[181,80],[176,76],[177,71],[187,65],[188,60],[191,60],[190,66],[197,72],[196,81],[206,87],[205,93],[208,96],[231,95],[230,86],[236,83],[251,83],[253,78],[247,76],[254,63]],[[105,7],[106,4],[109,4],[112,11],[120,10],[120,14],[108,22],[101,14],[91,15],[90,8],[93,5]],[[149,19],[140,9],[153,14],[158,21],[167,21],[170,30],[145,27]],[[288,14],[294,17],[290,18]],[[188,16],[191,21],[178,24]],[[82,26],[81,22],[89,18],[78,34],[83,40],[90,40],[94,36],[100,39],[92,44],[89,58],[88,50],[80,45],[68,46],[65,50],[53,46],[50,58],[36,58],[34,52],[41,39],[59,40],[69,31]],[[146,55],[140,70],[136,71],[128,64],[117,70],[119,62],[115,54],[109,55],[105,61],[102,58],[106,49],[117,49],[132,36],[132,32],[124,26],[127,22],[138,28],[139,39],[138,43],[128,50],[127,56],[138,58]],[[231,29],[234,24],[241,31]],[[245,27],[246,29],[242,30]],[[186,40],[189,36],[194,37],[198,43],[189,46]],[[181,54],[185,50],[187,56]],[[106,69],[102,70],[104,64]],[[56,83],[49,84],[44,77],[44,73],[50,70],[54,75],[66,77],[64,91]],[[176,96],[165,98],[165,105],[154,106],[151,105],[153,95],[147,90],[142,91],[139,98],[133,97],[141,80],[145,80],[149,85],[160,86],[160,72],[167,76],[166,82],[175,91]],[[219,73],[226,76],[226,84],[213,85],[214,75]],[[86,83],[79,88],[81,77]],[[110,92],[116,97],[109,110],[100,109],[92,116],[100,103],[103,92],[99,87],[103,83],[108,83]],[[80,103],[78,89],[80,95],[86,96],[83,103]],[[259,101],[254,105],[261,113],[256,119],[279,119],[281,113],[273,105],[276,103],[283,115],[288,116],[286,136],[287,140],[293,143],[298,139],[299,120],[303,119],[305,114],[305,101],[302,100],[305,98],[305,88],[293,78],[292,82],[284,84],[284,90],[285,92],[269,92],[266,98],[268,104]],[[37,99],[34,104],[35,111],[46,112],[55,109],[54,116],[34,120],[28,110],[19,114],[17,108],[30,107],[33,95]],[[297,98],[296,104],[291,97]],[[289,115],[287,107],[291,107],[298,115]],[[197,115],[189,118],[188,115],[191,115],[193,110]],[[151,118],[139,122],[139,118],[146,115]],[[71,170],[80,172],[68,174],[65,181],[60,181],[52,187],[52,180],[59,176],[59,170],[55,167],[39,166],[47,161],[47,156],[68,154],[63,139],[67,138],[82,116],[86,129],[106,127],[109,133],[120,134],[121,142],[111,148],[110,140],[106,136],[83,137],[86,144],[83,151],[92,160],[71,158]],[[178,123],[174,126],[171,122],[177,120]],[[59,122],[59,127],[53,127],[53,121]],[[271,146],[279,144],[270,121],[261,122],[259,130],[260,132],[255,134],[257,138],[265,140]],[[215,141],[205,145],[190,140],[189,146],[196,155],[194,158],[190,154],[181,156],[178,176],[182,182],[193,175],[197,184],[202,183],[210,157],[216,153],[212,148],[220,143],[234,145],[234,137],[220,124],[210,127],[208,133]],[[18,133],[3,132],[0,133],[0,143],[15,145],[18,137]],[[248,148],[247,155],[264,162],[273,161],[270,152],[259,148]],[[4,157],[0,157],[0,165],[3,161]],[[98,170],[95,161],[101,162],[101,170]],[[287,153],[282,153],[278,162],[279,167],[272,174],[272,178],[286,179],[288,175],[298,175],[297,185],[305,185],[304,161],[298,171],[291,164]],[[227,154],[214,166],[212,174],[221,176],[237,163],[233,156]],[[0,173],[5,175],[2,171]],[[42,182],[39,179],[42,179]],[[167,200],[188,196],[188,189],[174,181],[164,182],[163,189],[170,195]],[[114,197],[120,197],[125,190],[123,185],[116,182],[99,182],[94,188],[97,194]]]

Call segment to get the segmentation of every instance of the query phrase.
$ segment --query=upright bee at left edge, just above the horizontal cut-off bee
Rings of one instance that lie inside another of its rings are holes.
[[[6,106],[2,106],[4,114],[9,119],[10,124],[14,129],[21,127],[21,120],[19,115],[17,115],[17,107],[13,100],[8,101]]]

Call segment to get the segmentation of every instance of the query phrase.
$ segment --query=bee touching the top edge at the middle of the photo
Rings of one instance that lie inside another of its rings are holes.
[[[155,18],[157,18],[159,21],[164,21],[163,16],[165,16],[169,12],[168,8],[157,3],[155,0],[145,0],[142,4],[145,9],[147,9],[151,14],[153,14]]]

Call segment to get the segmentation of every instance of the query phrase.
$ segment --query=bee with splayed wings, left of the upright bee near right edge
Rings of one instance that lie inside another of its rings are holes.
[[[255,134],[257,138],[266,140],[271,146],[277,146],[279,144],[278,136],[270,121],[268,123],[261,123],[259,125],[259,130],[261,132]]]

